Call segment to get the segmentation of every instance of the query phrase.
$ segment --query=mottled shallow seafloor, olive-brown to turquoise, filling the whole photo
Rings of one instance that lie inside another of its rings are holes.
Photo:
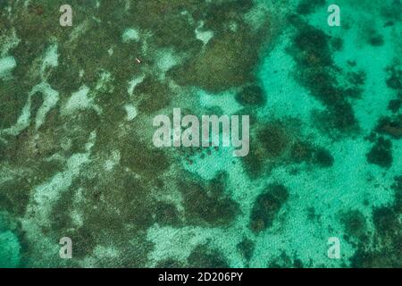
[[[401,13],[0,0],[0,266],[401,267]],[[249,114],[250,154],[155,148],[173,107]]]

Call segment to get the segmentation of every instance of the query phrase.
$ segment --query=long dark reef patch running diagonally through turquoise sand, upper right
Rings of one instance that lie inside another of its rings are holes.
[[[361,90],[338,86],[334,74],[339,72],[339,68],[332,60],[329,36],[303,21],[297,21],[297,28],[292,55],[303,71],[297,72],[297,80],[310,90],[312,96],[326,105],[327,110],[320,119],[320,122],[327,124],[322,126],[323,129],[356,130],[357,122],[348,97],[358,97]],[[359,75],[357,84],[361,84],[360,78]]]

